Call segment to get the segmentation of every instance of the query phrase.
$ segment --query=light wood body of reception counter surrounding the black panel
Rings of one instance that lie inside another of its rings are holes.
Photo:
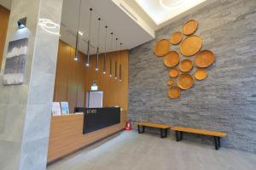
[[[124,129],[128,120],[127,111],[121,111],[120,123],[83,134],[84,114],[52,116],[49,136],[48,163],[67,156],[84,146],[108,137]]]

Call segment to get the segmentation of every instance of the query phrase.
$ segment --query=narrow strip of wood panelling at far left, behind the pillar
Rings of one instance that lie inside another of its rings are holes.
[[[3,50],[9,23],[9,9],[0,5],[0,69],[2,67]]]

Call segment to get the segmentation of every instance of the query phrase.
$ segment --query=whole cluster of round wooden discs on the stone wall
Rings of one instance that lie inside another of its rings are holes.
[[[192,88],[195,80],[206,79],[206,68],[215,61],[212,51],[201,50],[203,40],[195,35],[197,27],[196,20],[189,20],[183,25],[183,32],[174,32],[170,40],[162,39],[154,46],[154,54],[163,57],[164,65],[171,68],[170,80],[167,81],[170,86],[168,95],[171,99],[177,99],[182,90]],[[171,45],[178,44],[179,52],[172,50]],[[182,56],[187,59],[181,59]],[[196,68],[194,73],[193,68]]]

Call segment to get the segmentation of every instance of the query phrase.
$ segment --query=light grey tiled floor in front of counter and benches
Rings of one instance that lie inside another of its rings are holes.
[[[155,134],[122,132],[47,170],[231,170],[256,168],[256,155],[213,145],[160,139]]]

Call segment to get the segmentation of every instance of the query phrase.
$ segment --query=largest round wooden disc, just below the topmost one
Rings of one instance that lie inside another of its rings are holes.
[[[202,46],[201,37],[191,36],[191,37],[187,37],[186,39],[183,40],[183,42],[181,42],[179,49],[181,54],[189,57],[199,52],[199,50],[201,49],[201,46]]]

